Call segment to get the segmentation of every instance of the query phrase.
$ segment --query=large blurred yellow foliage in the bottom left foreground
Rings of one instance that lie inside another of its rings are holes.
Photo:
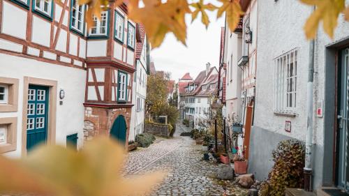
[[[75,151],[42,145],[20,160],[0,156],[0,193],[36,195],[140,195],[160,183],[165,172],[124,179],[124,146],[98,137]]]

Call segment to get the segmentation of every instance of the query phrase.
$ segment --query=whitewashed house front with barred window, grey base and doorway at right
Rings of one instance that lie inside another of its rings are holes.
[[[349,182],[348,127],[344,126],[348,123],[349,23],[340,15],[333,39],[319,27],[315,53],[311,54],[303,29],[312,12],[310,6],[299,1],[258,1],[255,6],[258,28],[251,31],[258,31],[253,37],[258,77],[248,170],[257,179],[265,179],[274,165],[272,150],[281,140],[305,143],[306,119],[311,112],[313,189],[321,192],[320,187],[336,186],[345,190]],[[313,111],[307,112],[312,55]]]

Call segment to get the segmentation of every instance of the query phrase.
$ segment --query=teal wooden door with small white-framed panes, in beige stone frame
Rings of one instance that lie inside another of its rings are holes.
[[[48,87],[29,85],[27,103],[27,150],[47,141]]]

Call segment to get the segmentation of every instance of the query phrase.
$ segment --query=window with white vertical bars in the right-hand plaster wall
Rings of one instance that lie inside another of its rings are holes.
[[[297,50],[274,59],[274,112],[295,113],[297,95]]]

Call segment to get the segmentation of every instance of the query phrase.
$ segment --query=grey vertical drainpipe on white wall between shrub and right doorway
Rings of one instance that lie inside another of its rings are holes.
[[[312,8],[312,12],[315,6]],[[309,42],[309,66],[308,66],[308,84],[306,85],[306,104],[307,104],[307,123],[306,123],[306,158],[304,167],[304,190],[313,190],[313,168],[311,165],[311,156],[313,149],[313,82],[314,82],[314,54],[315,38]]]

